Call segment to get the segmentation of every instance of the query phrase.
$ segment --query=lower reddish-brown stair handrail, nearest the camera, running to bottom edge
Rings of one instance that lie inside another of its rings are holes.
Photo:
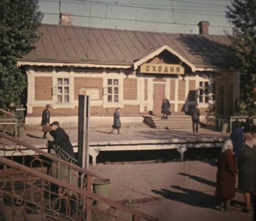
[[[61,181],[60,179],[57,179],[55,177],[52,177],[52,176],[49,176],[47,174],[41,173],[41,172],[39,172],[39,171],[37,171],[37,170],[35,170],[33,168],[29,168],[27,166],[23,166],[22,164],[20,164],[18,162],[15,162],[15,161],[12,161],[12,160],[9,160],[9,159],[7,159],[5,157],[1,157],[0,156],[0,163],[4,164],[4,165],[7,165],[9,167],[12,167],[12,168],[21,170],[23,173],[26,173],[26,174],[29,174],[29,175],[33,175],[35,177],[43,179],[44,181],[51,182],[51,183],[56,184],[58,186],[64,187],[65,189],[67,189],[69,191],[76,192],[78,194],[81,194],[84,197],[91,198],[93,200],[97,200],[99,202],[108,204],[108,206],[110,206],[110,207],[122,210],[124,212],[129,213],[129,214],[132,214],[133,215],[133,220],[140,220],[141,218],[147,219],[149,221],[157,221],[158,220],[157,218],[152,217],[152,216],[147,215],[147,214],[144,214],[143,212],[140,212],[140,211],[137,211],[137,210],[135,210],[133,208],[124,206],[124,205],[122,205],[120,203],[117,203],[117,202],[115,202],[113,200],[110,200],[108,198],[101,197],[100,195],[94,194],[94,193],[92,193],[90,191],[84,190],[84,189],[79,188],[79,187],[77,187],[75,185],[72,185],[72,184],[69,184],[67,182]]]

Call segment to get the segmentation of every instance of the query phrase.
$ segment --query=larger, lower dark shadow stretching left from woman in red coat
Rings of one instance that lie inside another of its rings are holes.
[[[162,195],[162,197],[166,199],[185,203],[193,207],[215,209],[215,207],[219,204],[218,198],[214,195],[206,194],[201,191],[191,190],[180,186],[173,185],[171,187],[175,190],[179,190],[182,192],[175,192],[167,189],[151,191],[158,195]],[[244,203],[237,200],[232,200],[231,206],[241,209],[244,206]]]

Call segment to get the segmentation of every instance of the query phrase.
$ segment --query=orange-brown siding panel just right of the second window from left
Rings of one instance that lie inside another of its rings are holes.
[[[124,100],[137,100],[137,79],[124,79]]]

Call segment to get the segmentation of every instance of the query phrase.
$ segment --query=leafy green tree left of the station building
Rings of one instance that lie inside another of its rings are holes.
[[[36,0],[0,1],[0,107],[18,104],[26,88],[26,75],[17,59],[27,54],[40,37],[43,15]]]

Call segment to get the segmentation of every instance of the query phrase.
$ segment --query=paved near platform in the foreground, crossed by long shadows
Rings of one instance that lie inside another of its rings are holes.
[[[251,214],[241,210],[243,195],[236,193],[233,212],[221,212],[214,197],[214,161],[187,161],[152,164],[95,166],[95,173],[110,178],[109,195],[157,217],[172,220],[249,221]]]

